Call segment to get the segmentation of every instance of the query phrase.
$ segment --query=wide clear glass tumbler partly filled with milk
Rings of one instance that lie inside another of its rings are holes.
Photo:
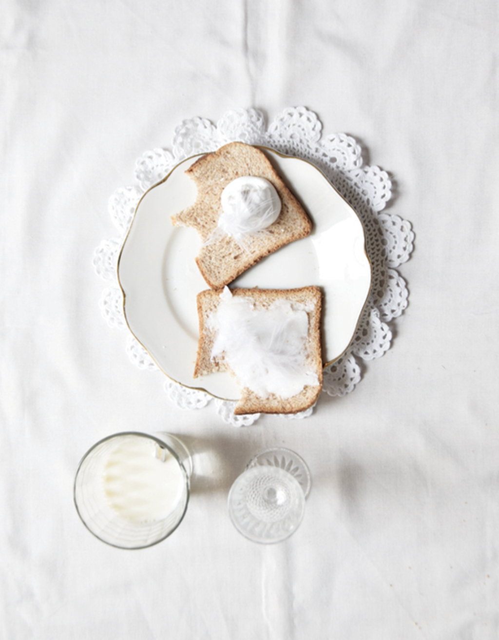
[[[107,436],[79,463],[74,481],[77,512],[109,545],[150,547],[182,521],[192,470],[191,455],[176,436],[136,431]]]

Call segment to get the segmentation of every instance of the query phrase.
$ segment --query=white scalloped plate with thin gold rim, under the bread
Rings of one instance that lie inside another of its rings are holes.
[[[328,364],[349,346],[369,293],[363,226],[312,164],[264,151],[312,218],[312,234],[260,260],[230,286],[319,285],[324,294],[322,359]],[[185,171],[197,157],[178,164],[141,198],[118,260],[118,280],[127,324],[158,367],[186,387],[237,399],[239,389],[229,374],[193,378],[199,337],[196,294],[208,285],[194,262],[201,244],[197,232],[173,227],[170,216],[196,199],[196,186]]]

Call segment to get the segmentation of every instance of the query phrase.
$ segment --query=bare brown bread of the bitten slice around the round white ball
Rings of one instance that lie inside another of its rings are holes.
[[[196,263],[212,289],[221,289],[269,253],[308,236],[312,222],[296,197],[284,184],[264,152],[242,142],[231,142],[200,157],[186,171],[198,188],[196,202],[172,216],[175,226],[194,227],[203,245]],[[277,220],[264,232],[245,237],[244,248],[227,234],[214,234],[222,211],[221,193],[242,176],[268,180],[281,200]],[[207,242],[209,241],[209,242]]]

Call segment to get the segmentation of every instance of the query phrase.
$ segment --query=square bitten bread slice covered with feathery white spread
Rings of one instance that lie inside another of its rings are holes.
[[[319,287],[207,289],[197,303],[194,378],[215,371],[234,375],[241,387],[236,415],[298,413],[317,401],[322,388]]]

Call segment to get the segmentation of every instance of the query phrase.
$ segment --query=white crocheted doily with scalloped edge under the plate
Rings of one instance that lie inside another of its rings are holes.
[[[100,309],[107,324],[127,328],[116,263],[143,193],[166,177],[180,161],[194,154],[214,151],[234,140],[264,145],[315,164],[363,222],[372,264],[370,297],[351,345],[339,360],[324,370],[324,393],[345,396],[352,392],[361,378],[358,361],[374,360],[388,351],[392,340],[388,323],[399,317],[408,305],[406,282],[396,269],[409,259],[414,234],[408,221],[383,211],[392,196],[388,173],[377,166],[363,164],[361,147],[351,136],[344,133],[322,136],[321,131],[317,115],[304,107],[285,109],[268,126],[257,109],[236,109],[225,113],[217,125],[204,118],[184,120],[175,129],[171,151],[155,148],[139,157],[135,164],[136,183],[116,189],[109,198],[109,214],[120,236],[102,241],[93,256],[95,271],[107,284],[100,298]],[[159,371],[131,333],[127,353],[140,369]],[[164,378],[164,374],[161,375]],[[181,408],[200,409],[213,402],[221,419],[234,426],[248,426],[260,415],[235,416],[235,403],[183,387],[168,378],[164,388],[171,401]],[[281,417],[303,418],[312,412],[310,408]]]

